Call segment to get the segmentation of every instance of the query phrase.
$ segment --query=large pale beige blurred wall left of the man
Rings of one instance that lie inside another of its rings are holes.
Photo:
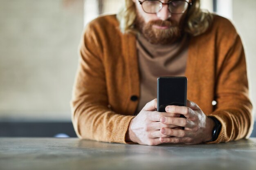
[[[70,120],[83,0],[0,0],[0,120]]]

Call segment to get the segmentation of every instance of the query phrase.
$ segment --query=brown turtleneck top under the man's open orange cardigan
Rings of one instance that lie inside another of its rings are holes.
[[[157,77],[184,76],[188,56],[188,38],[167,45],[150,44],[142,35],[137,37],[140,75],[140,99],[137,112],[157,98]]]

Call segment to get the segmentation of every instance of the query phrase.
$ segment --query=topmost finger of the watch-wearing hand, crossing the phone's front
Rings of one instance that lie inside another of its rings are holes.
[[[186,106],[169,105],[169,106],[166,106],[165,110],[168,113],[181,114],[187,118],[193,117],[195,115],[194,110]]]

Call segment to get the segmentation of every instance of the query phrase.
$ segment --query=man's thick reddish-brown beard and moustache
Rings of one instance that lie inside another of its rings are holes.
[[[167,29],[157,29],[156,26],[167,26]],[[181,37],[180,25],[171,20],[152,20],[145,23],[144,19],[137,13],[136,28],[151,44],[171,44]]]

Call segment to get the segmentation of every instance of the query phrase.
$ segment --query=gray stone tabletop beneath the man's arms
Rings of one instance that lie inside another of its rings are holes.
[[[78,138],[0,138],[0,170],[256,170],[256,138],[143,146]]]

